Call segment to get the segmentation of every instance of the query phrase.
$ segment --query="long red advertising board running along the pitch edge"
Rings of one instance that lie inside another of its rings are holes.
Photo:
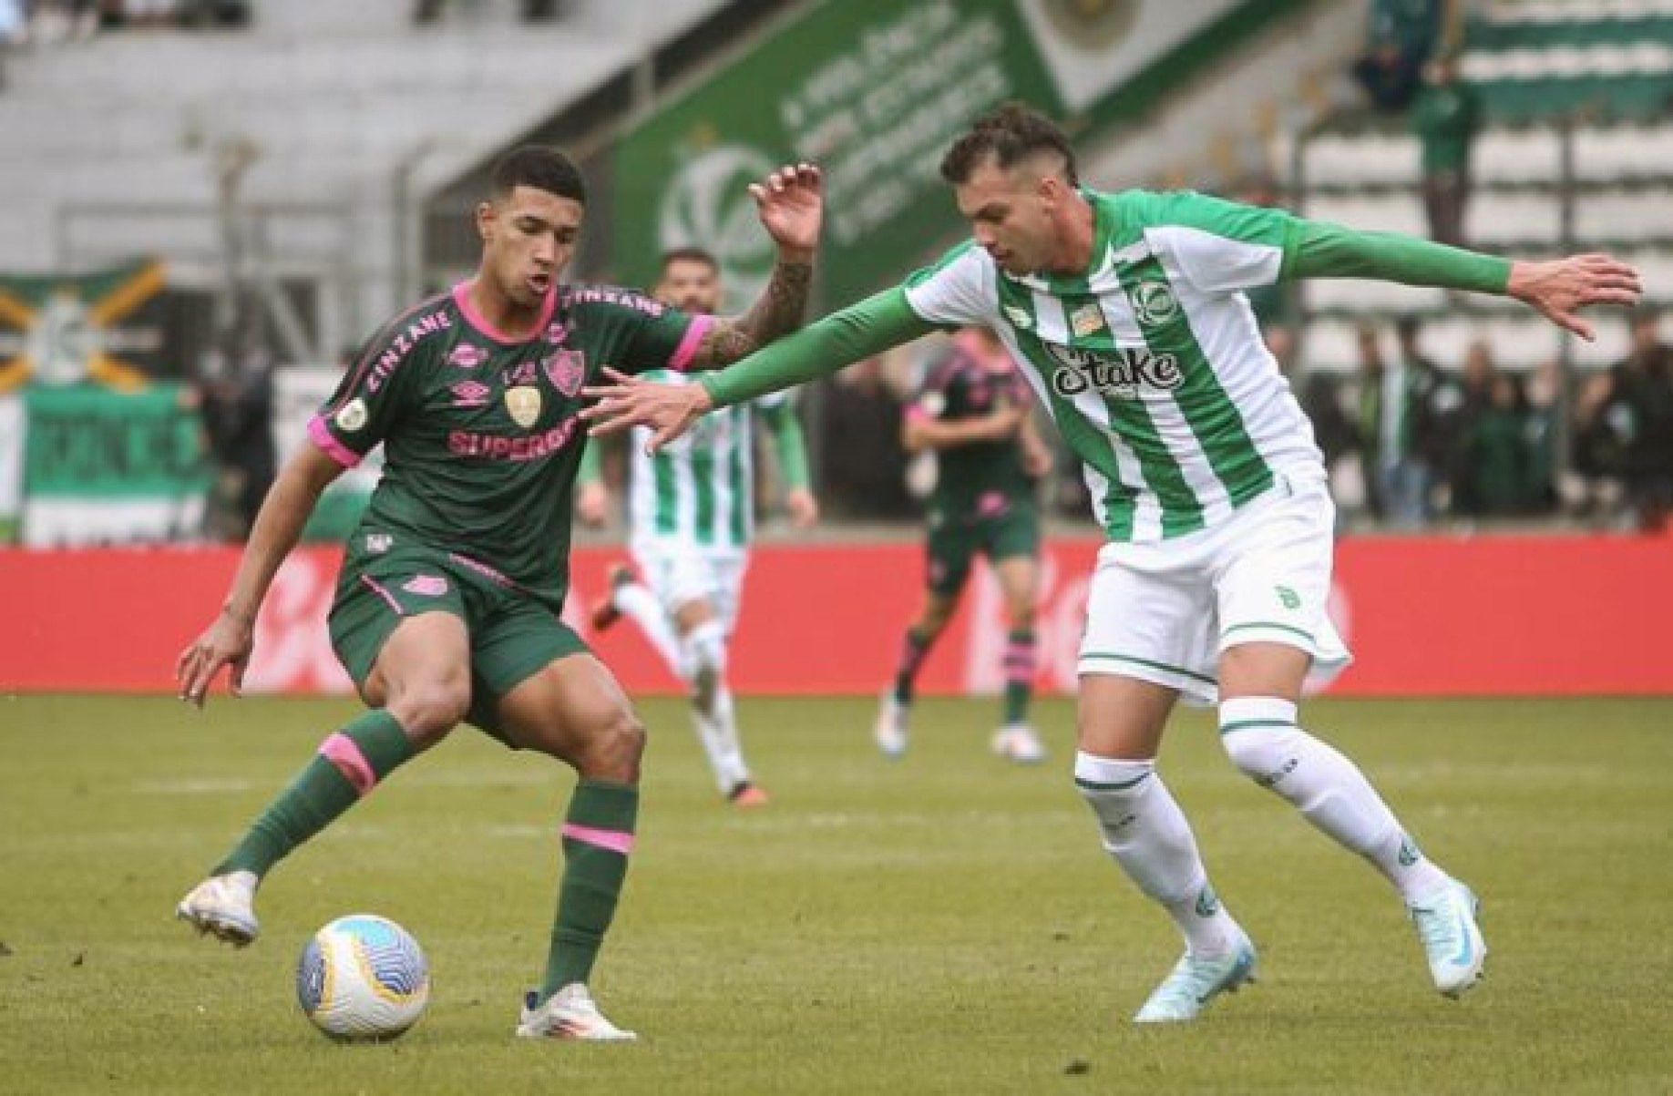
[[[1097,542],[1047,545],[1037,631],[1041,686],[1072,691]],[[612,549],[576,552],[565,616],[584,619]],[[249,686],[348,688],[325,636],[338,554],[299,551],[263,609]],[[0,549],[0,691],[166,691],[174,656],[219,606],[234,549]],[[873,694],[915,611],[915,544],[760,547],[731,653],[739,693]],[[1340,696],[1673,694],[1673,537],[1389,537],[1343,540],[1337,622],[1355,664]],[[636,693],[678,684],[621,624],[587,636]],[[979,572],[922,678],[927,693],[1000,686],[1004,621]]]

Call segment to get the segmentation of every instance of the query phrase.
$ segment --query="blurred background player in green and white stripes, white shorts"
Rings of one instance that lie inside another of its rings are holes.
[[[699,248],[669,251],[663,256],[656,296],[688,313],[711,315],[723,296],[719,264]],[[652,375],[671,383],[683,380],[676,370]],[[726,646],[738,624],[755,527],[751,408],[773,435],[791,522],[805,529],[818,520],[801,425],[785,393],[726,408],[654,455],[646,453],[649,435],[636,433],[629,545],[642,582],[629,567],[614,567],[609,592],[592,616],[601,631],[622,616],[632,617],[668,668],[691,688],[698,740],[721,795],[736,807],[766,803],[766,791],[753,781],[743,758],[736,704],[726,684]],[[576,510],[591,525],[606,520],[609,490],[597,447],[582,458]]]

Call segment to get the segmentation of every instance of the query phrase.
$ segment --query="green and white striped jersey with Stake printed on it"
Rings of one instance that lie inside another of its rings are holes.
[[[1082,274],[1012,276],[964,243],[907,279],[912,311],[999,333],[1084,463],[1111,540],[1183,535],[1280,477],[1322,480],[1312,423],[1243,293],[1278,281],[1302,223],[1191,192],[1084,194],[1096,241]]]

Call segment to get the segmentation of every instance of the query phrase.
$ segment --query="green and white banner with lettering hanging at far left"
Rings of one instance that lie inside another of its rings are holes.
[[[30,385],[20,403],[25,544],[181,540],[201,532],[212,472],[179,385]]]

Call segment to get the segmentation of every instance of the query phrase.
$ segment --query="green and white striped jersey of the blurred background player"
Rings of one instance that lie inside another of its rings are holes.
[[[691,383],[686,373],[652,370],[646,380]],[[673,540],[718,552],[744,551],[755,529],[753,407],[778,407],[786,393],[716,408],[654,457],[651,432],[632,432],[627,517],[634,544]]]

